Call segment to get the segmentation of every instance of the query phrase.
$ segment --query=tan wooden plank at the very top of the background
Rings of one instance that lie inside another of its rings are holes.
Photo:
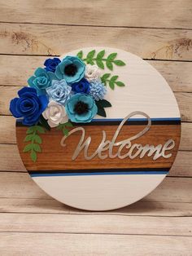
[[[1,1],[1,21],[191,29],[190,0]],[[162,19],[164,13],[164,19]]]

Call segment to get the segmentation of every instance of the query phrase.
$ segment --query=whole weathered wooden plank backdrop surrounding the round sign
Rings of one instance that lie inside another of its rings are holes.
[[[0,254],[191,255],[191,0],[0,0]],[[141,56],[180,107],[176,162],[150,195],[120,210],[62,205],[28,177],[8,107],[47,55],[111,46]]]

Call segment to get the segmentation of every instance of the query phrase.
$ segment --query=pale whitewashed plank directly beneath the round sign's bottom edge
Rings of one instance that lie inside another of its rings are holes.
[[[191,229],[192,217],[164,216],[162,221],[162,217],[123,214],[0,214],[0,232],[47,233],[51,230],[51,233],[146,235],[147,230],[149,236],[192,236]]]

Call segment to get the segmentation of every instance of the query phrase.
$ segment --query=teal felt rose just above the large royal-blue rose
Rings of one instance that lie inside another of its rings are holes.
[[[53,79],[57,79],[55,73],[46,72],[44,68],[37,68],[34,74],[35,76],[28,78],[28,85],[37,90],[37,95],[46,94],[46,88],[51,86]]]

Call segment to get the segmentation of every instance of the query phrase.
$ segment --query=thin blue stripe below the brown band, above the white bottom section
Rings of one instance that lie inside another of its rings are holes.
[[[31,177],[56,177],[56,176],[91,176],[91,175],[139,175],[139,174],[168,174],[167,170],[161,171],[120,171],[120,172],[94,172],[94,173],[55,173],[55,174],[30,174]]]

